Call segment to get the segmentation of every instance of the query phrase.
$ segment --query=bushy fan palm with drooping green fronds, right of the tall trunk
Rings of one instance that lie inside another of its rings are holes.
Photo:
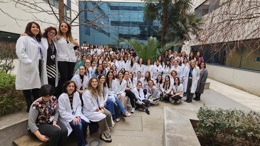
[[[173,40],[188,41],[191,35],[199,37],[202,31],[203,18],[197,18],[191,13],[192,3],[190,0],[178,0],[169,8],[168,29],[165,35],[166,42]],[[181,53],[182,45],[178,47]]]

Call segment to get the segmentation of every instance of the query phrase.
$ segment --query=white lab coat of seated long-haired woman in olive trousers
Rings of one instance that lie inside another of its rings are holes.
[[[86,90],[82,94],[83,107],[82,114],[86,116],[90,121],[98,122],[106,117],[105,114],[102,114],[96,111],[98,108],[104,107],[103,96],[97,95],[97,100],[93,97],[89,90]]]

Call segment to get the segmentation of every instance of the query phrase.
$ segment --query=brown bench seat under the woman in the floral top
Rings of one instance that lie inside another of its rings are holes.
[[[15,146],[48,146],[48,141],[40,141],[37,137],[32,137],[30,134],[26,134],[13,140]]]

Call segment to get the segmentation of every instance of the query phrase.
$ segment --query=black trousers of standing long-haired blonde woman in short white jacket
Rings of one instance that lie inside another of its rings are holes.
[[[60,73],[60,80],[58,82],[58,91],[62,93],[62,85],[66,82],[71,80],[73,77],[73,71],[75,68],[75,62],[67,62],[67,61],[58,61],[58,70]]]

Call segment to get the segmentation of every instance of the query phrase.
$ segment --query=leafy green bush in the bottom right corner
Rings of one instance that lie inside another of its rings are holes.
[[[202,145],[260,145],[260,113],[202,106],[197,114]]]

